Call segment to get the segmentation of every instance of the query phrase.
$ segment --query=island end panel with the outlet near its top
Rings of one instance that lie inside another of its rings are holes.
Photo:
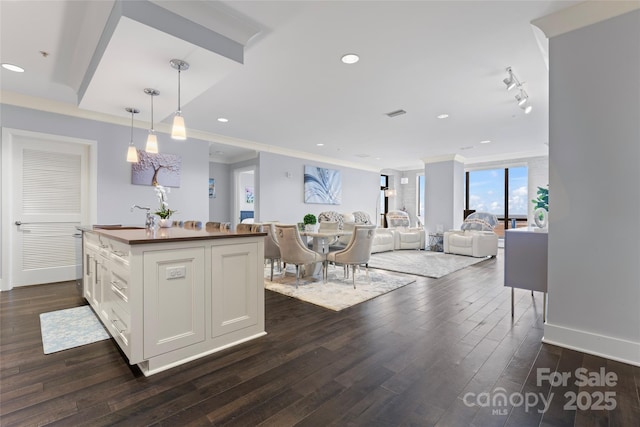
[[[144,254],[144,357],[205,338],[204,248]]]

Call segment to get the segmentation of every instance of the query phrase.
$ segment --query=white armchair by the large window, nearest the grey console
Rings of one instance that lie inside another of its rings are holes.
[[[487,212],[475,212],[469,215],[460,230],[445,231],[443,248],[445,253],[472,257],[496,256],[498,254],[498,235],[493,228],[498,218]]]

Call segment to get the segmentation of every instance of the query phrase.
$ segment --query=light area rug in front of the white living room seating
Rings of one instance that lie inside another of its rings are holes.
[[[371,254],[369,267],[438,279],[486,259],[433,251],[401,250]]]

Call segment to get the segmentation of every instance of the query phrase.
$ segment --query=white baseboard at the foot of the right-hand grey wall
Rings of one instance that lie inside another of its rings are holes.
[[[640,343],[546,323],[542,342],[640,366]]]

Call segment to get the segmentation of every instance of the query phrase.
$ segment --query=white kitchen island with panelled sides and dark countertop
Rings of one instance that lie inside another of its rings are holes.
[[[85,228],[84,296],[152,375],[266,333],[265,235]]]

